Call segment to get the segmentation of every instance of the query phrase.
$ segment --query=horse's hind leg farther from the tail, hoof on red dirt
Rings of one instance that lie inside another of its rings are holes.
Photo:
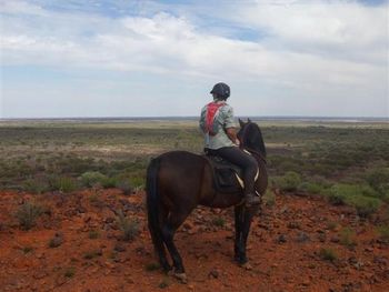
[[[182,259],[176,248],[173,238],[177,229],[183,223],[189,213],[190,212],[171,212],[166,224],[162,226],[162,238],[173,261],[174,273],[182,275],[184,273]]]

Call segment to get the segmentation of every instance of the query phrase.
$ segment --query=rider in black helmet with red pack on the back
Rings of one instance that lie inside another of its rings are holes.
[[[199,125],[205,134],[205,152],[208,155],[218,155],[243,170],[246,205],[260,203],[255,192],[255,180],[258,171],[256,159],[239,148],[233,110],[227,103],[230,88],[226,83],[217,83],[211,92],[213,101],[201,110]]]

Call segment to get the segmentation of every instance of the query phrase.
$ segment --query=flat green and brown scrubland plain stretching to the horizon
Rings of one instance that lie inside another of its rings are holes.
[[[272,189],[325,197],[368,218],[389,203],[388,124],[261,124]],[[151,157],[200,153],[196,122],[3,122],[0,188],[72,192],[144,187]],[[267,204],[271,204],[267,198]]]

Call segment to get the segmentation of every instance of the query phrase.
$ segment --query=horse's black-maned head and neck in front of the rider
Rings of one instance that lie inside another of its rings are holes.
[[[243,122],[239,119],[239,124],[240,130],[238,132],[238,139],[240,141],[241,148],[257,151],[261,153],[263,158],[266,158],[263,138],[258,124],[251,122],[250,119],[248,119],[247,122]]]

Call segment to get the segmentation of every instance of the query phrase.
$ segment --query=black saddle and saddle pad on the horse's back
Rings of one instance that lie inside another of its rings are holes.
[[[237,193],[243,190],[243,170],[240,167],[218,155],[203,154],[203,157],[213,170],[213,184],[218,192]]]

